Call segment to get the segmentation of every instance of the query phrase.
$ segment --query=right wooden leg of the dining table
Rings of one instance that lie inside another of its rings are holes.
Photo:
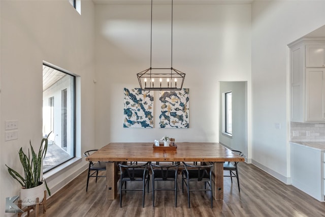
[[[213,162],[212,194],[215,200],[223,200],[223,162]]]

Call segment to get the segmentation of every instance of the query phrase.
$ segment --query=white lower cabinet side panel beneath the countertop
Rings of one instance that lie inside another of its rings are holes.
[[[291,143],[292,185],[324,202],[324,150]]]

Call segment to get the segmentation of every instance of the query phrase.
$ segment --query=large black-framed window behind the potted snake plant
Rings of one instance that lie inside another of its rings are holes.
[[[44,64],[44,137],[50,132],[43,172],[75,157],[75,76]]]

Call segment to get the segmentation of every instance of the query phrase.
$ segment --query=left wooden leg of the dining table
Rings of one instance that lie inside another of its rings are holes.
[[[114,200],[117,195],[117,163],[106,162],[106,200]]]

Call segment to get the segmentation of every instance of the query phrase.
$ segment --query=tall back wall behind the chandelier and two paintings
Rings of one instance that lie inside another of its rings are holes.
[[[171,64],[168,10],[154,5],[152,67]],[[250,82],[250,14],[250,5],[174,5],[173,67],[186,73],[189,129],[159,129],[157,103],[153,129],[123,129],[123,87],[139,87],[136,74],[150,66],[150,5],[96,5],[96,145],[218,142],[219,81]]]

